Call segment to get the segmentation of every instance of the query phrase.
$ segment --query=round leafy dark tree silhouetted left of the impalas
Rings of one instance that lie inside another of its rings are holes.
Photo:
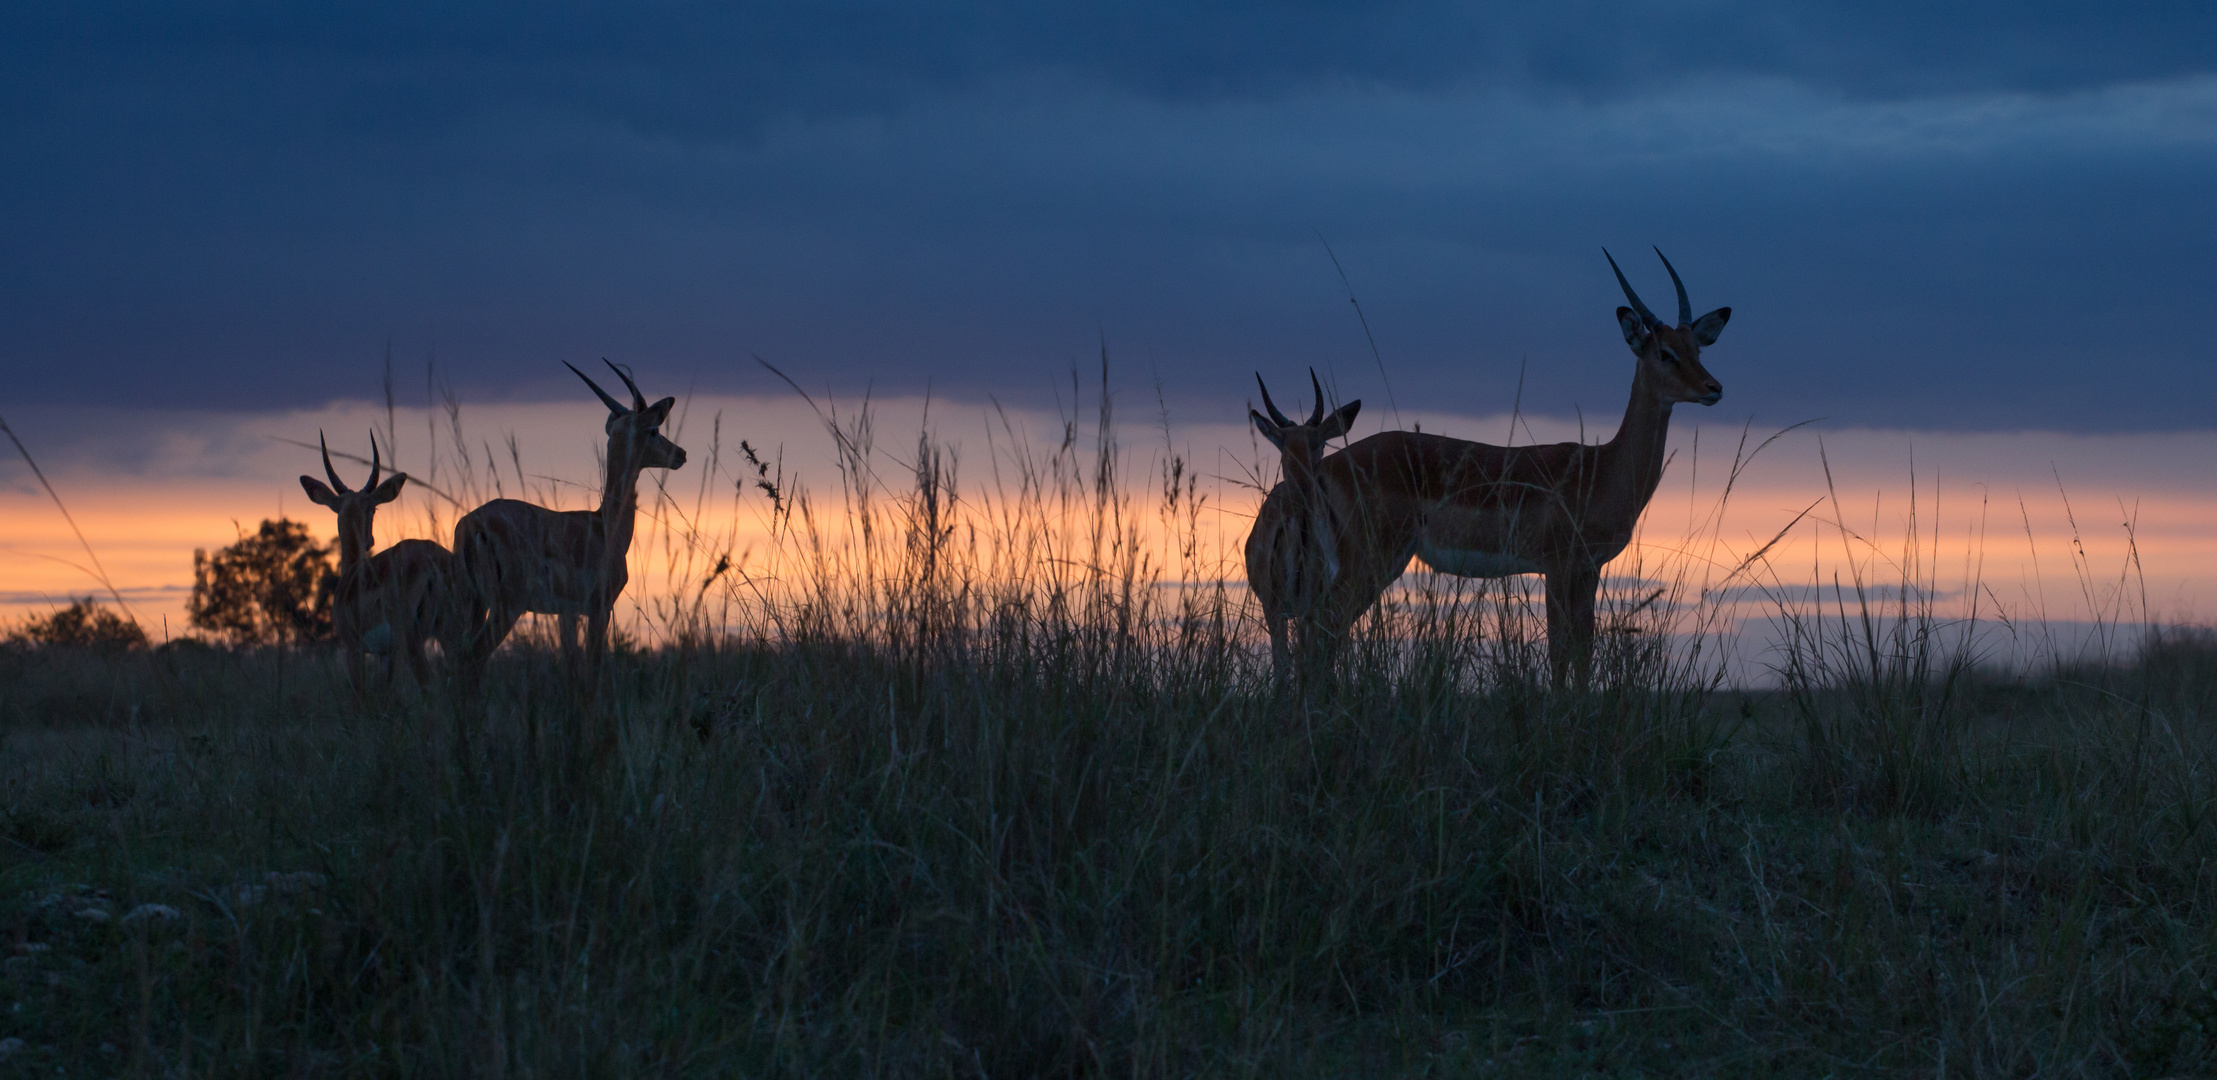
[[[299,645],[330,639],[330,594],[339,583],[333,546],[279,517],[251,537],[193,552],[191,623],[233,645]]]

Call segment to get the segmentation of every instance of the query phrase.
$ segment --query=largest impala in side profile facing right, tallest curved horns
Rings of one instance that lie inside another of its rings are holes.
[[[1632,541],[1641,510],[1663,479],[1669,410],[1678,401],[1714,406],[1725,388],[1700,366],[1731,308],[1694,317],[1685,282],[1678,324],[1641,304],[1632,282],[1603,251],[1629,308],[1616,326],[1632,346],[1632,401],[1616,437],[1601,446],[1488,446],[1443,435],[1390,430],[1317,463],[1317,488],[1341,523],[1335,559],[1312,559],[1330,585],[1310,605],[1306,636],[1330,656],[1355,619],[1419,557],[1457,577],[1547,577],[1547,668],[1563,683],[1583,672],[1594,645],[1594,592],[1601,566]]]

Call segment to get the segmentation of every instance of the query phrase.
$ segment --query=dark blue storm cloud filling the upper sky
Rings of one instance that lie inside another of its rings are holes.
[[[2217,11],[1530,7],[11,9],[0,401],[364,397],[386,342],[1040,395],[1097,333],[1379,399],[1321,231],[1403,406],[1614,412],[1594,248],[1654,242],[1736,415],[2206,424]]]

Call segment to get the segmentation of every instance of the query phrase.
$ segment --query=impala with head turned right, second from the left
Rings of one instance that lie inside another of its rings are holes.
[[[492,650],[525,612],[561,617],[563,659],[576,668],[576,621],[585,628],[585,672],[599,672],[607,621],[630,581],[632,521],[638,517],[638,470],[683,468],[685,450],[663,437],[676,397],[647,404],[623,368],[607,364],[632,390],[625,408],[607,390],[563,364],[607,406],[607,479],[599,510],[548,510],[521,499],[492,499],[454,521],[454,554],[474,585],[483,623],[470,645],[474,685]]]

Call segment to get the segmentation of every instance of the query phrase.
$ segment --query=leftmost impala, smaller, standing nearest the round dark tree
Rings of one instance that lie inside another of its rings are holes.
[[[317,437],[321,444],[321,435]],[[426,641],[439,641],[448,656],[457,656],[468,641],[468,597],[459,581],[454,557],[432,541],[399,541],[370,554],[372,521],[377,508],[399,499],[408,483],[406,472],[395,472],[379,483],[384,470],[377,457],[377,435],[370,435],[370,481],[361,490],[348,490],[339,470],[330,468],[330,446],[324,446],[324,475],[330,486],[315,477],[302,477],[299,486],[308,501],[328,506],[339,514],[339,588],[330,599],[330,625],[346,645],[346,674],[355,692],[366,687],[361,654],[384,659],[386,681],[392,681],[395,654],[408,656],[408,670],[419,685],[430,685],[430,663],[423,656]]]

